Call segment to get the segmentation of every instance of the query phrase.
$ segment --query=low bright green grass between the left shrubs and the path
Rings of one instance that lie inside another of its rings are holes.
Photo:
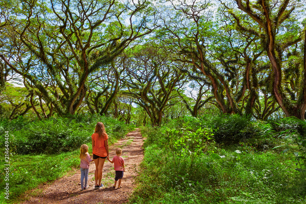
[[[38,187],[42,183],[53,181],[73,168],[78,168],[79,151],[62,154],[12,155],[9,172],[9,202],[16,202],[25,191]],[[4,161],[1,161],[4,169]],[[4,187],[4,175],[1,175],[1,186]],[[6,201],[3,193],[0,202]]]

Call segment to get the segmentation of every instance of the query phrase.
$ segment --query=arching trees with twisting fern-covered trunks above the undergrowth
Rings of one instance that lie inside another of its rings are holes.
[[[305,1],[0,4],[2,117],[305,119]]]

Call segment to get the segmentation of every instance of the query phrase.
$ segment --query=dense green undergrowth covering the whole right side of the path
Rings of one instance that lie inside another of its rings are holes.
[[[306,203],[306,182],[295,170],[303,158],[292,154],[303,148],[284,131],[306,132],[290,118],[262,122],[235,115],[143,127],[145,156],[130,202]],[[293,151],[283,153],[284,146]]]

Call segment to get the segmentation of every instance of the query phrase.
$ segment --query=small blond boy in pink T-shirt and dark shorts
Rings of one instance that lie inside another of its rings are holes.
[[[108,161],[110,161],[110,163],[114,163],[114,168],[115,168],[115,172],[116,172],[116,176],[115,176],[115,184],[113,186],[113,188],[116,187],[117,181],[118,182],[118,188],[121,188],[120,184],[121,184],[121,179],[123,177],[123,172],[125,172],[124,170],[124,160],[121,156],[122,154],[122,150],[120,148],[116,148],[116,154],[117,156],[114,156],[113,160],[110,161],[110,159],[108,158]]]

